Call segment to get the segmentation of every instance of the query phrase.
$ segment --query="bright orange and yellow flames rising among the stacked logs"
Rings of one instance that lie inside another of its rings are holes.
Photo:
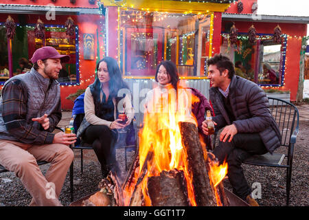
[[[179,122],[193,122],[197,126],[196,119],[187,110],[191,108],[192,102],[198,102],[198,98],[192,96],[190,89],[178,89],[177,95],[175,90],[173,92],[172,85],[168,89],[165,102],[162,100],[162,97],[154,98],[148,102],[148,104],[152,104],[154,109],[150,109],[152,111],[148,109],[148,112],[144,114],[144,127],[139,133],[139,170],[135,173],[133,183],[124,188],[125,205],[130,203],[129,200],[133,194],[135,184],[137,184],[137,179],[143,171],[141,169],[146,162],[148,170],[140,183],[146,206],[151,206],[147,188],[148,178],[160,175],[163,170],[168,171],[172,169],[183,170],[187,181],[187,193],[190,205],[196,206],[192,175],[187,169],[187,154],[181,141]],[[187,96],[189,102],[181,102],[183,96]],[[176,102],[176,97],[179,102]],[[189,103],[190,108],[187,107]],[[152,159],[151,161],[146,161],[146,157],[150,151],[153,153]],[[217,185],[225,177],[226,173],[220,171],[220,168],[217,171],[217,167],[214,166],[214,171],[211,172],[212,175],[219,173],[219,175],[214,175],[214,182],[216,183],[214,185]]]

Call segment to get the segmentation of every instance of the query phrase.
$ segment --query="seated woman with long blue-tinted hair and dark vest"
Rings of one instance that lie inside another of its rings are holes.
[[[84,94],[85,120],[80,125],[80,129],[84,131],[78,135],[81,135],[84,142],[92,144],[102,167],[102,175],[106,177],[109,170],[119,170],[115,158],[117,129],[130,124],[134,118],[134,111],[130,90],[122,79],[117,61],[107,56],[99,61],[96,70],[97,78],[87,87]],[[122,120],[117,119],[119,111],[126,113],[126,124],[120,123]],[[84,129],[84,126],[87,128]]]

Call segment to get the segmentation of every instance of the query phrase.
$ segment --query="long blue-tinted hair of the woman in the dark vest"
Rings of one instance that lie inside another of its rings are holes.
[[[128,89],[128,85],[122,79],[122,73],[120,72],[117,61],[114,58],[111,58],[110,56],[106,56],[98,62],[95,68],[97,70],[97,78],[95,79],[93,86],[95,87],[95,90],[98,91],[100,94],[101,83],[98,78],[98,69],[99,69],[100,63],[102,62],[106,63],[109,78],[110,78],[108,82],[109,94],[112,98],[117,97],[119,89],[123,89],[123,88]]]

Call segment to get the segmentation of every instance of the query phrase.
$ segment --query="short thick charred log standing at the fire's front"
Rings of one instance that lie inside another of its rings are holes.
[[[148,179],[152,206],[188,206],[187,182],[182,170],[162,171]]]

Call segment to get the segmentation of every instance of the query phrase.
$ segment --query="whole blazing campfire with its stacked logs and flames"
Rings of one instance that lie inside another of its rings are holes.
[[[191,94],[188,94],[191,96]],[[170,100],[170,99],[169,99]],[[196,100],[192,98],[191,100]],[[187,108],[171,103],[168,111],[145,113],[139,133],[139,152],[120,185],[110,173],[100,192],[83,198],[84,206],[241,206],[241,199],[223,184],[227,163],[219,166],[198,135],[196,121],[188,120]],[[72,206],[80,205],[80,201]]]

